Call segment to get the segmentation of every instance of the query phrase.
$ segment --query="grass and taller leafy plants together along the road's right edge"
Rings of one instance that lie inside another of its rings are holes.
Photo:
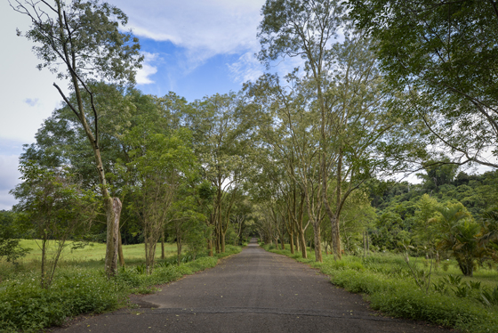
[[[455,260],[432,272],[429,288],[420,288],[403,256],[374,254],[344,256],[341,261],[324,256],[316,262],[312,254],[303,259],[289,250],[261,244],[266,250],[290,256],[330,276],[331,282],[364,294],[374,310],[400,318],[428,321],[463,332],[498,332],[498,272],[479,269],[472,278],[463,277]],[[417,272],[427,272],[428,261],[410,257]],[[418,262],[417,262],[418,260]],[[425,286],[424,286],[425,287]]]

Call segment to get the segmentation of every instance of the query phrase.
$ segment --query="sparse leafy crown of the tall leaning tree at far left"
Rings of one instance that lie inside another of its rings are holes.
[[[48,68],[60,78],[76,74],[84,80],[99,77],[118,84],[134,82],[143,56],[138,39],[120,31],[128,19],[116,6],[98,0],[69,4],[63,0],[52,4],[16,0],[12,7],[32,21],[25,36],[36,44],[33,51],[43,61],[39,69]],[[60,61],[66,65],[62,69]]]

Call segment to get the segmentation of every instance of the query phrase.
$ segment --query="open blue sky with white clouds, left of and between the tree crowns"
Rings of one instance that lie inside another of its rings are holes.
[[[12,1],[12,0],[11,0]],[[237,91],[259,77],[264,68],[253,54],[264,0],[110,0],[129,17],[127,28],[140,37],[145,55],[138,73],[144,93],[169,91],[189,101],[213,93]],[[49,71],[36,69],[36,56],[16,28],[26,31],[27,17],[0,1],[0,209],[15,200],[8,193],[20,174],[22,144],[34,142],[44,118],[60,105]]]

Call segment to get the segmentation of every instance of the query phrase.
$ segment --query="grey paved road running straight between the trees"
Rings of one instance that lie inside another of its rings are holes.
[[[252,242],[242,253],[138,301],[59,329],[68,332],[447,332],[379,316],[361,296]]]

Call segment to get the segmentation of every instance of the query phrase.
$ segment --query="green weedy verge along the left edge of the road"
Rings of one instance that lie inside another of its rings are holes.
[[[58,269],[48,289],[40,288],[39,271],[29,269],[36,263],[32,260],[21,263],[4,275],[0,283],[0,331],[34,332],[58,326],[80,313],[112,311],[128,305],[130,294],[154,292],[157,285],[213,267],[219,258],[240,251],[240,247],[227,246],[223,254],[197,257],[180,266],[173,264],[176,257],[171,257],[159,261],[151,275],[143,272],[141,263],[130,265],[128,262],[128,266],[110,280],[100,260],[84,260],[80,264],[77,258],[72,258]]]

